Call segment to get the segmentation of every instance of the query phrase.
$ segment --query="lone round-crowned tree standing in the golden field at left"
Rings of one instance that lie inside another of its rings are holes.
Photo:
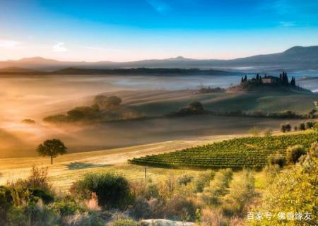
[[[40,156],[51,157],[51,164],[53,164],[54,157],[57,157],[57,155],[64,155],[66,150],[67,148],[64,143],[59,139],[47,140],[37,146],[37,153],[39,153]]]

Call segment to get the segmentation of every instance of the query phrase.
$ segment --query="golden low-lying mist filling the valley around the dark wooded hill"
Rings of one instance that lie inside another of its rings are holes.
[[[42,120],[76,106],[91,105],[93,97],[100,93],[186,90],[198,88],[200,84],[226,88],[239,80],[237,76],[3,76],[0,78],[0,157],[35,156],[36,146],[47,138],[60,138],[69,152],[78,152],[213,134],[246,133],[253,125],[276,128],[278,122],[275,119],[259,122],[257,119],[215,116],[90,125],[54,125]],[[145,96],[147,93],[134,96],[134,100],[126,97],[126,101],[138,103]],[[23,119],[32,119],[35,123],[22,123]]]

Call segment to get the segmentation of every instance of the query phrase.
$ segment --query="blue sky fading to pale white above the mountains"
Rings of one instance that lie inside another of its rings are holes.
[[[0,60],[233,59],[318,45],[317,0],[0,0]]]

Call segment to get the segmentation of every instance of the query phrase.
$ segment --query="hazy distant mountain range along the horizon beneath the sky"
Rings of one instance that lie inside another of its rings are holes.
[[[264,54],[238,59],[149,59],[142,61],[57,61],[42,57],[0,61],[0,69],[23,68],[33,71],[57,71],[76,69],[130,69],[130,68],[179,68],[179,69],[222,69],[225,71],[318,71],[318,46],[292,47],[281,53]],[[1,71],[1,70],[0,70]]]

